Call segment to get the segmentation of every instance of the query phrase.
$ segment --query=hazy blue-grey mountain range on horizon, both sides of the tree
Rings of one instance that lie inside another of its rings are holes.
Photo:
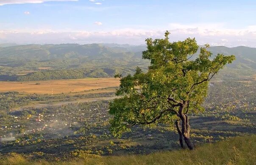
[[[13,60],[52,60],[68,58],[131,58],[141,56],[146,50],[145,45],[128,44],[30,44],[13,45],[0,44],[0,59],[11,58]],[[224,47],[216,46],[210,48],[213,55],[223,53],[234,54],[241,63],[250,66],[256,63],[256,48],[251,47]]]

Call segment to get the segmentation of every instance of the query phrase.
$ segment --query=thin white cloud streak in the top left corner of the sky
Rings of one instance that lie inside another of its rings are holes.
[[[78,0],[0,0],[0,5],[23,4],[23,3],[44,3],[49,1],[78,1]]]

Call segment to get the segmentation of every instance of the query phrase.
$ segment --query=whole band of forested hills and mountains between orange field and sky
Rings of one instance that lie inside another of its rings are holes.
[[[49,80],[132,74],[136,66],[147,69],[149,61],[142,59],[143,50],[146,50],[145,45],[2,44],[0,80]],[[217,53],[236,55],[237,60],[228,65],[230,68],[251,71],[256,69],[256,48],[216,46],[210,50],[212,57]]]

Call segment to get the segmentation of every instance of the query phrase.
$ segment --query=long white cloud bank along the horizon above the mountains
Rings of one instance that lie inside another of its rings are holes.
[[[124,28],[109,31],[0,30],[0,42],[15,42],[17,44],[87,44],[102,42],[145,44],[145,38],[162,38],[165,30],[169,30],[171,32],[170,41],[195,37],[198,44],[256,47],[256,28],[254,28],[256,26],[254,25],[241,29],[224,28],[223,25],[210,27],[207,25],[198,27],[178,25],[178,27],[163,27],[160,30]]]

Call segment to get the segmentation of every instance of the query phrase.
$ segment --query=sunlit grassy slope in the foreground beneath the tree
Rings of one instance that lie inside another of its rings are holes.
[[[149,155],[86,156],[70,162],[30,162],[19,154],[0,158],[1,165],[256,165],[256,135],[205,144],[194,151],[165,151]]]

